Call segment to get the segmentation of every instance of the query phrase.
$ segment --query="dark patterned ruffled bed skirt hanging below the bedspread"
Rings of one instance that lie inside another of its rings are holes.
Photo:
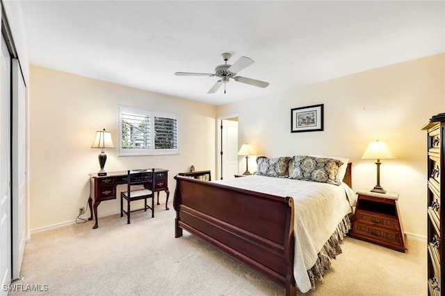
[[[340,243],[351,229],[351,218],[352,214],[348,214],[341,220],[337,229],[335,229],[332,236],[318,253],[318,259],[314,266],[307,270],[307,275],[309,275],[309,279],[311,280],[311,290],[315,288],[315,279],[323,283],[323,275],[325,275],[325,270],[330,269],[331,259],[335,259],[337,255],[341,254]]]

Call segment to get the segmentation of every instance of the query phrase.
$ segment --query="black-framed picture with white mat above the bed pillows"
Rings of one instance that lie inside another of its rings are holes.
[[[323,130],[324,104],[291,109],[291,132],[317,132]]]

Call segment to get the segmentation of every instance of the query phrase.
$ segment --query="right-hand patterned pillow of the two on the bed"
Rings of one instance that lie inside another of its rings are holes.
[[[340,185],[339,167],[342,164],[338,159],[327,157],[294,156],[289,178]]]

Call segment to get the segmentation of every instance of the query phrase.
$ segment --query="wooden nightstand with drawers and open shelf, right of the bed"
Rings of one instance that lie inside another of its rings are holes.
[[[357,192],[353,229],[350,236],[405,252],[405,233],[398,211],[398,193]]]

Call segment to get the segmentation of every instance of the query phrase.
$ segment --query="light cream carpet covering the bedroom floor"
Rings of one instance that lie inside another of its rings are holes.
[[[127,225],[118,215],[33,234],[22,265],[22,290],[9,295],[284,295],[243,263],[184,232],[175,238],[175,210],[156,207]],[[353,238],[332,261],[323,284],[305,295],[426,295],[426,243],[403,254]]]

